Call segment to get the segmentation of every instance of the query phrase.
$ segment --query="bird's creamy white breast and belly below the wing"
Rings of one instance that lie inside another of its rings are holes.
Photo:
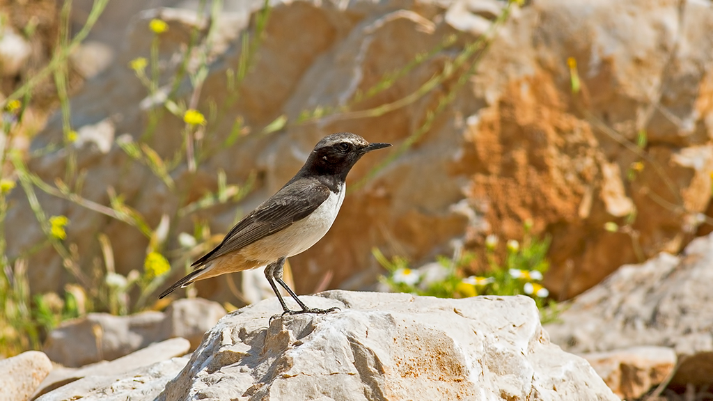
[[[272,263],[282,257],[302,253],[317,243],[329,231],[344,200],[344,186],[339,193],[330,194],[322,205],[306,218],[284,230],[262,238],[238,251],[245,258],[261,263]]]

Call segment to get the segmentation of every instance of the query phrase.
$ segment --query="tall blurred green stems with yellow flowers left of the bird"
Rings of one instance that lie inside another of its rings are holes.
[[[205,2],[205,0],[201,1],[200,9],[204,9]],[[68,54],[86,37],[89,29],[106,6],[107,0],[95,2],[86,26],[73,39],[70,39],[68,30],[70,3],[70,1],[66,1],[60,11],[59,40],[53,59],[48,66],[19,86],[19,89],[14,93],[0,96],[0,99],[4,99],[0,101],[2,112],[0,166],[11,164],[13,167],[12,170],[6,168],[0,170],[0,229],[5,232],[4,222],[9,207],[6,201],[7,196],[14,191],[19,183],[45,236],[33,248],[26,250],[13,260],[9,260],[6,256],[4,235],[0,235],[0,349],[3,350],[4,355],[14,355],[23,350],[39,348],[43,336],[48,330],[56,327],[63,320],[93,310],[123,315],[147,308],[160,308],[160,305],[154,303],[154,298],[151,295],[163,284],[172,270],[171,266],[175,267],[173,270],[188,268],[189,258],[205,250],[203,248],[206,245],[197,245],[198,240],[207,240],[209,242],[207,246],[210,246],[212,238],[209,238],[210,233],[205,228],[205,222],[197,213],[215,205],[240,201],[247,193],[250,193],[252,182],[255,180],[255,176],[252,175],[246,183],[237,185],[228,182],[225,172],[218,171],[215,193],[206,192],[199,200],[188,200],[185,191],[190,186],[180,189],[175,183],[176,168],[181,165],[181,161],[188,165],[190,173],[195,173],[199,163],[215,153],[215,149],[202,148],[201,140],[205,138],[205,127],[209,123],[216,123],[216,118],[224,116],[218,116],[217,108],[214,107],[209,113],[209,118],[205,118],[196,107],[196,102],[200,98],[200,88],[207,78],[207,54],[210,52],[212,35],[215,34],[213,21],[216,20],[216,14],[222,8],[221,1],[212,1],[210,11],[212,18],[208,20],[210,27],[207,36],[205,32],[201,32],[200,26],[195,26],[190,44],[186,49],[183,49],[185,52],[182,57],[183,64],[174,76],[168,78],[168,82],[159,81],[161,70],[164,67],[160,65],[158,57],[161,36],[170,27],[160,19],[153,19],[148,23],[153,32],[150,57],[148,59],[143,57],[133,59],[128,67],[133,69],[136,78],[145,87],[148,98],[155,101],[154,107],[149,110],[149,123],[143,135],[138,138],[120,136],[116,141],[116,145],[128,156],[127,163],[138,163],[148,168],[154,176],[160,179],[168,192],[180,200],[179,208],[170,215],[164,215],[158,225],[151,225],[145,216],[128,205],[128,197],[125,194],[116,193],[112,188],[108,188],[108,204],[96,203],[83,198],[82,186],[86,171],[80,171],[77,167],[77,153],[80,149],[75,146],[78,133],[71,126],[67,58]],[[223,104],[224,111],[237,100],[237,88],[254,62],[253,59],[260,46],[262,31],[267,24],[269,11],[270,7],[265,7],[265,10],[260,12],[255,29],[244,35],[243,43],[246,47],[243,57],[240,59],[239,73],[237,76],[235,74],[232,76],[229,88],[230,98]],[[194,62],[189,63],[188,61]],[[185,103],[183,97],[178,95],[178,88],[183,82],[184,76],[187,76],[193,85],[193,93],[190,94],[188,104]],[[34,151],[34,156],[57,151],[63,151],[66,155],[64,171],[58,172],[57,176],[50,178],[49,181],[45,181],[46,178],[41,178],[30,171],[24,155],[8,146],[15,136],[22,135],[20,126],[25,116],[24,111],[31,106],[32,93],[35,88],[47,78],[53,79],[57,88],[56,96],[59,100],[63,122],[63,141]],[[160,88],[171,88],[171,91],[167,96],[165,93],[159,93]],[[155,123],[163,111],[168,111],[185,123],[182,132],[185,146],[171,158],[163,158],[148,143],[156,128]],[[210,121],[208,121],[209,119]],[[242,126],[242,117],[236,117],[235,121],[236,127],[224,143],[223,148],[234,146],[239,136],[249,132]],[[199,150],[200,153],[198,153]],[[149,239],[143,268],[130,270],[125,275],[118,273],[114,266],[112,244],[108,236],[100,234],[97,240],[103,258],[96,260],[93,271],[83,271],[79,265],[78,248],[73,243],[67,242],[68,233],[71,233],[73,226],[71,216],[48,215],[39,202],[38,192],[68,200],[94,213],[120,220],[135,228],[137,235],[143,235]],[[194,221],[194,234],[200,234],[200,237],[175,232],[178,220],[184,218]],[[168,248],[175,247],[175,245],[171,245],[172,242],[169,239],[177,236],[179,238],[178,248]],[[78,283],[78,285],[73,283],[66,285],[66,290],[62,295],[44,293],[31,296],[26,278],[26,260],[31,255],[40,250],[46,250],[48,247],[61,256],[69,280]]]

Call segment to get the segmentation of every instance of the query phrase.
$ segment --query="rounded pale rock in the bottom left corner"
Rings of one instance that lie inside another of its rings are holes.
[[[52,370],[52,362],[39,351],[0,360],[0,401],[26,401]]]

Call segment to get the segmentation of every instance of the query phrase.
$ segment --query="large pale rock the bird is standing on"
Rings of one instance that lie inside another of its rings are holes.
[[[530,298],[444,300],[328,291],[329,315],[230,313],[158,400],[617,400],[550,344]]]

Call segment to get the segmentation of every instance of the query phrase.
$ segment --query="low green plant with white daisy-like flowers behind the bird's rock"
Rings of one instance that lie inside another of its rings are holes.
[[[458,252],[453,258],[439,257],[441,273],[436,278],[420,269],[409,267],[408,261],[400,256],[386,258],[379,249],[374,248],[374,258],[388,270],[388,275],[381,276],[381,282],[394,292],[428,295],[438,298],[467,298],[476,295],[528,295],[540,309],[540,317],[545,320],[556,318],[557,308],[553,300],[548,299],[549,291],[539,282],[550,264],[547,252],[549,238],[537,238],[530,233],[531,224],[525,224],[522,243],[508,240],[506,255],[498,259],[496,247],[498,240],[493,235],[486,240],[485,256],[488,270],[481,276],[463,277],[476,255],[471,252]]]

